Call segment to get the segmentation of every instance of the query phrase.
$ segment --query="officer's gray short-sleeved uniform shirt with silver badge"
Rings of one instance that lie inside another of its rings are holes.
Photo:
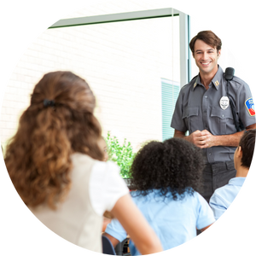
[[[177,131],[189,131],[189,134],[199,130],[207,130],[212,135],[229,135],[236,133],[230,104],[228,108],[221,108],[220,100],[227,96],[227,80],[224,72],[218,66],[209,89],[201,84],[200,76],[196,76],[189,84],[183,86],[177,98],[172,116],[171,127]],[[252,115],[245,102],[252,98],[249,86],[234,76],[229,82],[229,94],[236,106],[236,116],[241,119],[244,127],[256,123],[256,112]],[[224,104],[225,101],[222,101]],[[238,120],[237,117],[237,120]],[[205,163],[230,161],[234,158],[236,147],[203,148]]]

